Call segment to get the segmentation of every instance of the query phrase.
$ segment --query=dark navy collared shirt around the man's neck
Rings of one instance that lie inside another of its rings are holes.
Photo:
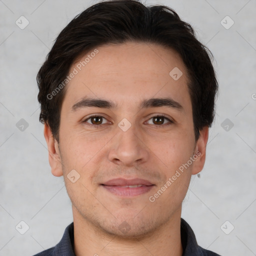
[[[181,218],[180,223],[181,243],[183,248],[182,256],[220,256],[215,252],[203,249],[195,239],[194,232],[188,223]],[[33,256],[75,256],[74,250],[74,225],[70,223],[64,234],[55,246],[41,251]]]

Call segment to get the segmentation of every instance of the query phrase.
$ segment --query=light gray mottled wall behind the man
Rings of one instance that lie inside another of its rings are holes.
[[[49,248],[72,222],[63,177],[50,172],[35,76],[60,30],[96,2],[0,0],[0,255]],[[256,0],[146,3],[168,5],[194,27],[214,55],[219,81],[206,163],[192,177],[182,217],[202,247],[256,255]],[[21,15],[29,21],[24,29],[15,24]],[[226,15],[234,21],[229,29],[221,24]],[[28,123],[23,131],[16,126],[21,118]],[[15,229],[21,220],[29,226],[23,235]]]

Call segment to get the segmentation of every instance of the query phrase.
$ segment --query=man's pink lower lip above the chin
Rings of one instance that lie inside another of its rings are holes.
[[[121,187],[121,186],[107,186],[102,185],[110,193],[120,196],[134,196],[144,194],[152,189],[154,185],[150,186],[138,186],[138,187]]]

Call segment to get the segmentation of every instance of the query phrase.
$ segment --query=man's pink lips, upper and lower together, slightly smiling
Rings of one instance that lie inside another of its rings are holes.
[[[137,187],[125,186],[141,185]],[[150,181],[142,178],[124,179],[114,178],[106,181],[101,186],[114,195],[119,196],[135,196],[148,192],[154,186]]]

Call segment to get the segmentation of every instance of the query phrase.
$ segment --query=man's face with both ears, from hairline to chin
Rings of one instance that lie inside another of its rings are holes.
[[[208,130],[195,141],[186,68],[174,50],[135,42],[97,50],[70,67],[78,72],[65,88],[59,144],[45,125],[52,173],[64,176],[74,219],[119,236],[148,234],[180,217]]]

